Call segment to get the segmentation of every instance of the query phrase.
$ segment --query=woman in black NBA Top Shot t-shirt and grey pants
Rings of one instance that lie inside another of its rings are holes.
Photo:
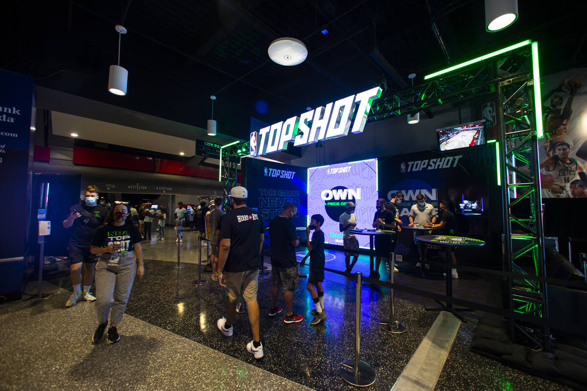
[[[141,239],[141,233],[131,220],[126,202],[116,203],[104,219],[104,225],[94,235],[90,252],[100,255],[95,277],[95,308],[98,318],[98,327],[92,337],[95,344],[102,339],[109,314],[108,342],[113,344],[120,339],[117,325],[122,321],[134,276],[144,275]]]

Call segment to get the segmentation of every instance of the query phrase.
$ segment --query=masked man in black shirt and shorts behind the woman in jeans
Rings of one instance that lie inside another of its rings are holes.
[[[102,225],[108,214],[108,209],[97,205],[98,188],[95,185],[87,186],[82,203],[69,208],[69,216],[63,220],[63,227],[72,228],[68,244],[68,261],[70,278],[73,285],[73,294],[65,303],[65,307],[73,307],[80,298],[85,301],[95,301],[90,294],[90,287],[94,280],[96,256],[90,253],[90,243],[96,230]],[[82,264],[84,268],[82,292]]]

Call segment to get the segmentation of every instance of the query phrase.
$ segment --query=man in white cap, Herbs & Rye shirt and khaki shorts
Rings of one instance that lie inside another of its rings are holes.
[[[216,325],[225,336],[232,335],[232,317],[239,297],[245,299],[253,340],[247,351],[255,358],[263,356],[259,339],[259,304],[257,303],[259,255],[263,248],[265,227],[256,210],[247,207],[248,192],[242,186],[230,191],[232,209],[220,220],[220,252],[218,253],[218,284],[226,288],[226,316]]]

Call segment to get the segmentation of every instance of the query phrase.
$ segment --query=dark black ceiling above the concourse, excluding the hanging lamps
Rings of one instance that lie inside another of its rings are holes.
[[[518,21],[487,33],[483,0],[6,1],[0,64],[40,86],[203,128],[215,94],[218,131],[247,140],[250,117],[272,123],[376,85],[400,90],[409,73],[417,84],[525,39],[538,40],[543,74],[585,64],[587,2],[540,4],[520,0]],[[106,91],[117,23],[128,29],[125,97]],[[281,36],[301,39],[308,59],[271,62],[267,47]]]

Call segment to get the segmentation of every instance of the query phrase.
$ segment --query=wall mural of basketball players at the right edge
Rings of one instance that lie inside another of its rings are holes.
[[[538,140],[543,198],[587,198],[587,68],[544,77],[544,139]]]

